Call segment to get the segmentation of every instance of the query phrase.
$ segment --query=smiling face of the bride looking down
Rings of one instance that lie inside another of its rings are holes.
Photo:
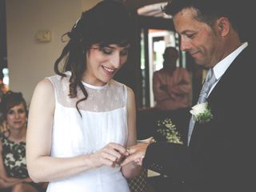
[[[82,80],[94,86],[105,85],[127,61],[128,50],[129,46],[94,44],[86,54],[86,73]]]

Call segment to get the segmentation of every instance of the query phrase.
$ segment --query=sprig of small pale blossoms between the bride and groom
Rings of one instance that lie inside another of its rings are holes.
[[[158,121],[158,133],[166,138],[166,142],[183,144],[181,135],[170,118],[165,118]]]

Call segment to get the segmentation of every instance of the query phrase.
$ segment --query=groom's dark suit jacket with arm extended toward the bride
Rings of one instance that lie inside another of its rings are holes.
[[[190,146],[153,143],[143,166],[181,191],[256,191],[255,59],[249,45],[222,75],[207,98],[214,118],[196,122]]]

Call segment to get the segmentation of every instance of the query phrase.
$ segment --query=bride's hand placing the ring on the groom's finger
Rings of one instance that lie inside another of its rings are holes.
[[[91,161],[94,167],[99,166],[112,166],[122,161],[124,156],[127,155],[126,148],[118,143],[110,142],[102,148],[91,154]]]

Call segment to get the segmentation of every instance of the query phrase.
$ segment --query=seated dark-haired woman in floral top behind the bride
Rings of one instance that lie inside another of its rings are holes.
[[[7,130],[0,133],[0,190],[12,192],[45,191],[34,183],[26,170],[27,108],[22,93],[8,91],[0,103],[2,122]]]

